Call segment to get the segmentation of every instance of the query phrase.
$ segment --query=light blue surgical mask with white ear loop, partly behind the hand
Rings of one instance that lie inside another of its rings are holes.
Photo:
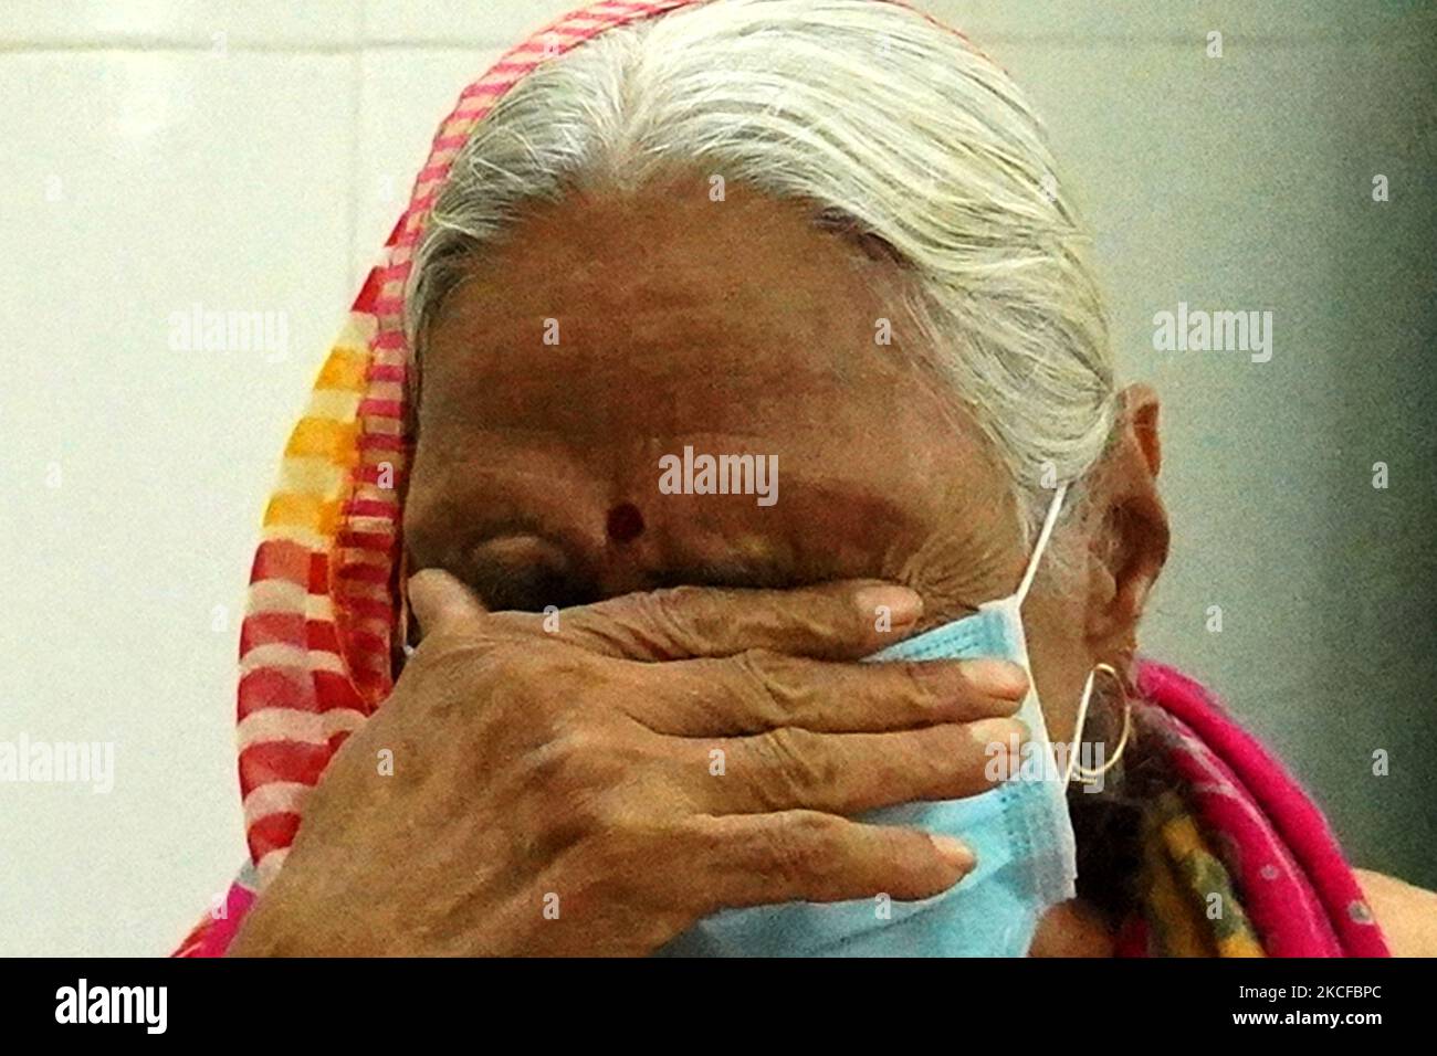
[[[1038,570],[1065,488],[1053,496],[1017,592],[986,602],[971,616],[944,624],[869,657],[971,659],[1019,664],[1033,685],[1020,608]],[[670,957],[1023,957],[1049,907],[1073,897],[1076,843],[1066,780],[1052,760],[1036,688],[1017,711],[1032,731],[1022,772],[967,799],[904,803],[859,820],[904,825],[954,836],[977,855],[956,886],[918,902],[879,895],[849,902],[785,902],[724,909],[698,921],[660,950]],[[1043,753],[1043,764],[1026,759]]]

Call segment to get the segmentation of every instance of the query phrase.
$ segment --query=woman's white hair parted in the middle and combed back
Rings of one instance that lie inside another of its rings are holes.
[[[525,201],[693,164],[815,203],[894,250],[921,338],[901,343],[969,408],[1030,539],[1050,488],[1078,481],[1114,427],[1088,240],[1007,75],[901,4],[721,0],[539,66],[440,190],[407,299],[411,346]]]

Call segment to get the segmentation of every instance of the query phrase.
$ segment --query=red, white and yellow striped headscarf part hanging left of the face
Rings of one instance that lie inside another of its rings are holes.
[[[244,829],[259,884],[285,861],[300,803],[392,687],[399,513],[411,438],[404,290],[420,236],[470,131],[539,63],[693,0],[598,3],[510,49],[440,125],[408,208],[369,272],[285,447],[240,634]]]

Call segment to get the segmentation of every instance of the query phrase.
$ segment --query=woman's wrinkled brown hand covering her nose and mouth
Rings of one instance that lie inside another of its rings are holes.
[[[1022,736],[1012,664],[851,662],[917,619],[902,588],[680,588],[550,629],[438,570],[410,598],[424,639],[233,955],[645,954],[723,907],[927,898],[971,853],[845,816],[983,792]]]

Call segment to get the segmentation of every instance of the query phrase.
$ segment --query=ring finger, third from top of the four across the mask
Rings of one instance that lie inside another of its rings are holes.
[[[687,760],[673,779],[707,813],[849,816],[987,792],[1017,773],[1026,738],[1016,718],[984,718],[895,733],[782,727],[754,737],[671,738],[667,749],[673,761]]]

